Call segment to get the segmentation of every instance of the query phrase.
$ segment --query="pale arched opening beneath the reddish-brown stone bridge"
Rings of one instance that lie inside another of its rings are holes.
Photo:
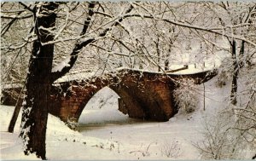
[[[109,87],[97,91],[84,106],[79,117],[79,126],[125,123],[129,116],[119,112],[119,98],[119,95]]]

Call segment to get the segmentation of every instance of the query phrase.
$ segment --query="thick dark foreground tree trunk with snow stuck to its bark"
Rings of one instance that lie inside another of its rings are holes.
[[[33,43],[29,71],[26,77],[26,97],[23,103],[20,137],[26,146],[25,154],[35,152],[38,158],[45,157],[45,134],[48,119],[50,73],[54,55],[54,45],[42,46],[53,40],[44,28],[55,26],[56,3],[44,3],[35,8],[35,33],[38,39]],[[37,14],[40,14],[38,16]],[[40,28],[39,28],[40,27]]]

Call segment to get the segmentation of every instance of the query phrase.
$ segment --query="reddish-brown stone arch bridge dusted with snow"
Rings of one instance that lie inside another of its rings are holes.
[[[182,78],[193,78],[195,83],[207,82],[217,75],[216,70],[193,74],[142,72],[134,69],[119,69],[99,77],[72,80],[53,84],[49,112],[61,120],[78,122],[85,105],[100,89],[108,86],[119,95],[119,111],[131,118],[168,121],[177,113],[173,90]],[[20,92],[21,88],[3,90],[2,103],[15,106],[8,91]],[[19,102],[19,106],[21,101]]]

